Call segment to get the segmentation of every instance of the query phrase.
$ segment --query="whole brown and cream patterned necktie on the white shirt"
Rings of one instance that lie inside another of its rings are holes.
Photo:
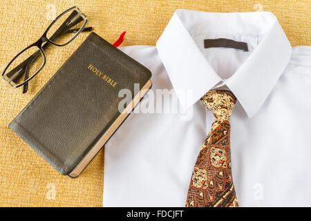
[[[229,118],[236,97],[229,90],[209,90],[201,101],[213,111],[215,122],[196,160],[187,207],[238,206],[232,181]]]

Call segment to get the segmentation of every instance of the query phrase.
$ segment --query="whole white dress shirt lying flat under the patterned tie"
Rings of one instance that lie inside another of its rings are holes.
[[[218,38],[249,51],[204,48]],[[176,10],[156,46],[121,50],[151,70],[153,86],[105,146],[104,206],[185,206],[214,122],[200,97],[220,87],[238,99],[230,124],[240,206],[311,206],[311,47],[292,48],[271,12]]]

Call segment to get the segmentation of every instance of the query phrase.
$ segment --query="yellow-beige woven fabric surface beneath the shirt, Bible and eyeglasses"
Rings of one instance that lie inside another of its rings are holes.
[[[279,18],[293,46],[311,45],[311,1],[1,1],[0,69],[19,50],[37,40],[53,19],[71,6],[88,17],[88,26],[113,42],[127,34],[123,45],[156,44],[177,8],[209,12],[268,10]],[[47,64],[30,83],[26,95],[0,80],[0,206],[102,206],[104,151],[76,179],[59,175],[8,129],[8,124],[35,96],[88,34],[64,48],[51,47]],[[125,184],[125,183],[124,183]]]

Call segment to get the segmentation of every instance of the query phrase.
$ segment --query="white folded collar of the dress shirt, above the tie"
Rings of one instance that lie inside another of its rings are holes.
[[[258,44],[236,73],[223,80],[191,37],[200,30],[256,35]],[[156,46],[182,108],[188,109],[222,83],[236,95],[249,117],[265,102],[292,53],[288,38],[271,12],[176,10]]]

